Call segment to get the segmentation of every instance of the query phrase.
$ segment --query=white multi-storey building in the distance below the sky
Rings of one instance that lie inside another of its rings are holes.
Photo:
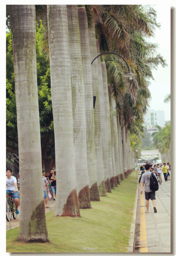
[[[144,115],[144,126],[149,128],[155,128],[156,126],[161,128],[165,127],[165,111],[164,110],[153,110],[149,109],[146,115]],[[150,133],[154,132],[150,129]]]

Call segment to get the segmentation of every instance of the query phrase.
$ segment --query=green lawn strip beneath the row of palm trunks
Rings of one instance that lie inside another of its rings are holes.
[[[19,228],[7,231],[7,252],[127,252],[136,196],[136,172],[118,187],[80,210],[81,218],[46,214],[49,243],[18,241]]]

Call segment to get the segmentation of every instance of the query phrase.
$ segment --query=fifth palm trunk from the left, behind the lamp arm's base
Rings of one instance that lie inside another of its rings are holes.
[[[89,46],[91,53],[91,60],[97,56],[96,51],[96,39],[95,39],[95,24],[92,30],[88,31],[89,34]],[[102,159],[102,141],[101,141],[101,122],[100,122],[100,106],[99,106],[99,77],[98,77],[98,63],[97,59],[92,65],[92,83],[93,83],[93,95],[96,96],[96,103],[94,108],[94,122],[95,122],[95,157],[96,157],[96,175],[97,184],[99,189],[99,195],[105,196],[105,183],[104,183],[104,171],[103,171],[103,159]]]

